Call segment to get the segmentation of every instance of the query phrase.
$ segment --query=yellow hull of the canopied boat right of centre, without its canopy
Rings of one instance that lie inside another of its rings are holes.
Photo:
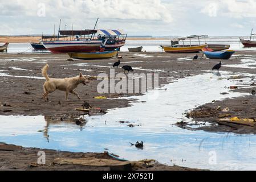
[[[200,46],[189,46],[189,47],[172,47],[172,46],[162,46],[164,51],[167,53],[196,53],[200,52],[202,48],[205,48],[207,44]]]

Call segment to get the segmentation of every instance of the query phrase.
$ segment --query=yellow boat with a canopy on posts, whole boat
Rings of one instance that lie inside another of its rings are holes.
[[[195,53],[200,52],[207,44],[200,44],[200,38],[208,35],[191,35],[185,38],[174,38],[171,40],[171,46],[161,46],[168,53]],[[191,39],[198,38],[198,45],[192,45]],[[184,40],[189,39],[189,45],[184,45]],[[182,40],[182,45],[179,43]]]

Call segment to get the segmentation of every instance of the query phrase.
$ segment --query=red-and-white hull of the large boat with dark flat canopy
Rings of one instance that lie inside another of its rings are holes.
[[[100,51],[101,43],[100,40],[42,42],[52,53],[96,52]]]

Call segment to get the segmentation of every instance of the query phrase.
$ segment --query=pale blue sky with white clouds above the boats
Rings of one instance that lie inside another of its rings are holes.
[[[61,29],[120,29],[128,35],[209,36],[256,32],[256,0],[0,0],[0,35]]]

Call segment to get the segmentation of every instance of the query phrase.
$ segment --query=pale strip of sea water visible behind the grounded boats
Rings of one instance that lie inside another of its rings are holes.
[[[245,37],[246,38],[246,37]],[[200,40],[201,43],[204,43],[204,39]],[[189,41],[186,40],[185,44],[189,44]],[[230,49],[235,51],[248,51],[253,50],[256,51],[255,48],[244,48],[243,45],[239,42],[238,37],[209,37],[206,39],[206,43],[208,44],[230,44]],[[192,39],[192,44],[198,44],[198,39]],[[0,44],[1,45],[1,44]],[[124,47],[121,48],[121,51],[127,52],[128,48],[132,47],[140,47],[143,46],[143,51],[147,52],[161,52],[163,51],[160,46],[170,45],[170,39],[147,39],[147,40],[127,40]],[[9,53],[46,53],[48,51],[34,51],[34,49],[30,46],[30,43],[10,43]]]

